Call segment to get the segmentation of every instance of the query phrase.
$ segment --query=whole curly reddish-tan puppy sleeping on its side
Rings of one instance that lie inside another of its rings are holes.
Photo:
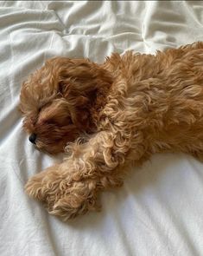
[[[130,163],[156,152],[203,155],[203,43],[113,54],[105,63],[56,57],[22,84],[23,127],[36,148],[67,152],[26,191],[63,220],[96,209]]]

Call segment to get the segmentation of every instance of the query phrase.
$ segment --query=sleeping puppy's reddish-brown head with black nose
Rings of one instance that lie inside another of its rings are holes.
[[[87,59],[48,60],[22,84],[19,107],[29,141],[56,154],[68,141],[92,133],[92,108],[111,82],[105,69]]]

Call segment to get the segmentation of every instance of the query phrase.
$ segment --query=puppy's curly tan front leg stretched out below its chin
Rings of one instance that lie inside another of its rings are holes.
[[[67,160],[32,177],[27,193],[44,202],[49,213],[73,218],[96,208],[98,191],[122,185],[129,154],[130,137],[100,132],[85,144],[73,143]]]

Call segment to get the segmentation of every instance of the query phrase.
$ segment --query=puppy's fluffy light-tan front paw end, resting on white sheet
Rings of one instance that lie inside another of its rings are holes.
[[[48,213],[63,220],[98,208],[96,181],[75,181],[75,175],[60,172],[60,166],[48,167],[36,174],[28,181],[25,189],[30,197],[45,205]]]

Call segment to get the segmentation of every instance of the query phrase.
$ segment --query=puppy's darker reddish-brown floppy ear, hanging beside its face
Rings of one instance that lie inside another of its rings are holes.
[[[60,70],[59,91],[67,99],[73,122],[79,128],[88,128],[91,109],[99,95],[107,93],[112,78],[108,71],[89,60],[70,62]]]

